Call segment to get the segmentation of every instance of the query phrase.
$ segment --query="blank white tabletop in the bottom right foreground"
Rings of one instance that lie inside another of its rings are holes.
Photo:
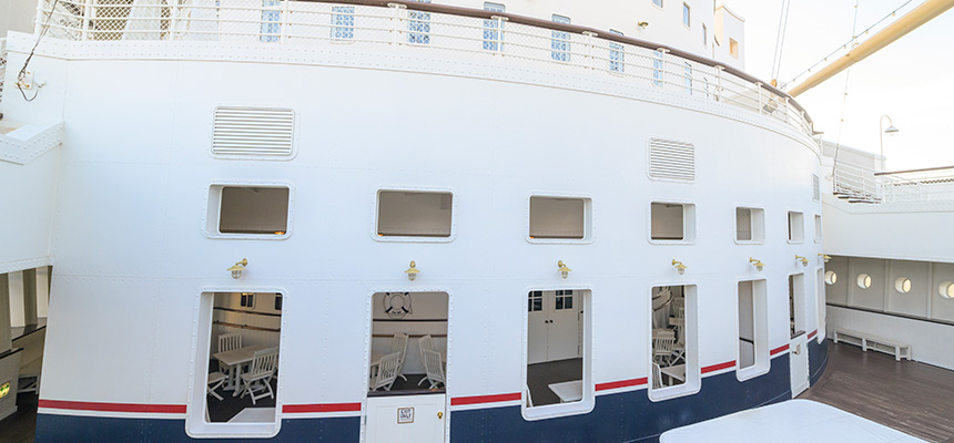
[[[789,400],[667,431],[660,443],[924,443],[811,400]]]

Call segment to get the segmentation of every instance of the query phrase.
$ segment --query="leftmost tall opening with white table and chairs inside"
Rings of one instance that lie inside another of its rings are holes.
[[[200,327],[207,341],[200,340],[204,343],[196,349],[201,356],[195,359],[196,373],[202,375],[194,380],[197,406],[189,412],[190,435],[277,432],[281,299],[278,292],[202,295],[202,309],[211,322]],[[255,398],[254,404],[250,396]]]

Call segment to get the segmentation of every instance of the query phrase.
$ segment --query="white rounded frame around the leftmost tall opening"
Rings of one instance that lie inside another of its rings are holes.
[[[190,365],[189,396],[185,405],[185,434],[193,439],[270,439],[278,435],[282,430],[283,390],[281,375],[278,387],[275,390],[275,422],[267,423],[209,423],[205,421],[205,402],[211,401],[205,388],[209,385],[209,356],[212,347],[212,320],[216,292],[272,292],[281,293],[283,297],[282,308],[284,316],[285,301],[288,296],[285,288],[278,287],[247,287],[247,286],[221,286],[200,288],[199,297],[195,299],[196,321],[192,329],[192,348],[195,350],[193,363]],[[205,299],[207,296],[207,300]],[[285,364],[285,337],[284,317],[282,332],[278,334],[278,368]]]

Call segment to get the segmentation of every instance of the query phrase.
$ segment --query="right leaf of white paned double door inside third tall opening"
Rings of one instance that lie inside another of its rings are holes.
[[[572,290],[548,291],[550,322],[547,331],[547,361],[580,357],[580,296]]]

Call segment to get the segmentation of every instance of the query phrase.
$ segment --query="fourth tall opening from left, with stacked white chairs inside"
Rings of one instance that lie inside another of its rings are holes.
[[[694,349],[696,286],[658,286],[650,295],[650,399],[691,393],[700,385]]]

